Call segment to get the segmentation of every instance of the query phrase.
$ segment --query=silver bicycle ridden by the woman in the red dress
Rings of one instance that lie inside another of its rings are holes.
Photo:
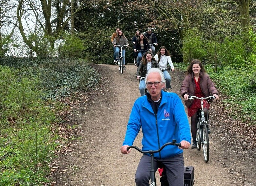
[[[204,160],[207,163],[209,161],[209,136],[208,136],[208,125],[207,121],[205,119],[204,114],[204,101],[207,105],[209,100],[216,99],[213,95],[209,97],[196,97],[196,96],[188,96],[188,99],[200,99],[201,100],[201,108],[198,110],[197,114],[197,131],[196,131],[196,148],[197,150],[201,149],[201,144],[203,146],[203,152],[204,152]]]

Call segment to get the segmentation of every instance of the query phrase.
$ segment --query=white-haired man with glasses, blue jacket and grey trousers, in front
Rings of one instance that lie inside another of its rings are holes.
[[[169,145],[154,154],[154,171],[156,172],[161,162],[165,166],[169,186],[183,186],[183,149],[188,149],[191,141],[184,106],[177,94],[162,91],[165,79],[158,68],[149,70],[145,82],[149,93],[138,98],[133,105],[121,153],[128,154],[131,151],[126,148],[133,145],[140,128],[144,151],[157,150],[176,139],[181,143],[181,148]],[[144,154],[135,174],[137,186],[149,185],[150,167],[150,156]]]

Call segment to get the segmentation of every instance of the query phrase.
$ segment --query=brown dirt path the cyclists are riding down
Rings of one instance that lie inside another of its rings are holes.
[[[135,185],[134,174],[141,154],[133,150],[128,155],[122,155],[119,150],[131,108],[140,95],[138,81],[134,76],[136,67],[126,67],[121,75],[117,66],[95,65],[103,76],[103,91],[98,91],[90,102],[80,104],[75,113],[80,123],[80,138],[73,142],[75,145],[71,151],[59,158],[56,164],[59,168],[51,177],[54,180],[52,185]],[[184,74],[176,70],[171,73],[171,77],[173,92],[179,95]],[[216,109],[214,104],[212,107]],[[218,129],[214,131],[213,128],[212,131],[209,135],[210,160],[207,164],[202,150],[184,151],[185,165],[194,166],[195,185],[256,185],[255,179],[246,179],[246,175],[255,173],[253,166],[248,168],[248,173],[231,171],[235,160],[220,146]],[[134,145],[141,147],[141,137],[139,134]],[[255,163],[255,159],[252,162]],[[242,161],[236,162],[236,167],[239,166],[244,168]],[[157,185],[160,185],[159,182]]]

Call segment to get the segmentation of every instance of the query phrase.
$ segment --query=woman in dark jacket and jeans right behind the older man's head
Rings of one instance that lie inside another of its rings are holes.
[[[145,77],[151,68],[159,68],[159,65],[156,62],[155,58],[152,56],[152,53],[146,52],[143,55],[143,58],[141,60],[141,63],[139,64],[139,67],[137,68],[137,73],[136,73],[137,79],[140,79],[140,77]],[[145,88],[146,88],[145,80],[141,79],[139,84],[139,90],[140,90],[141,96],[145,95]]]

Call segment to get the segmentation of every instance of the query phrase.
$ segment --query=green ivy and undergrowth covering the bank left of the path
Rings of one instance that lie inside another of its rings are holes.
[[[59,98],[100,75],[82,60],[0,59],[0,185],[43,185],[60,137]],[[51,104],[54,101],[55,104]],[[67,126],[68,127],[68,126]]]

